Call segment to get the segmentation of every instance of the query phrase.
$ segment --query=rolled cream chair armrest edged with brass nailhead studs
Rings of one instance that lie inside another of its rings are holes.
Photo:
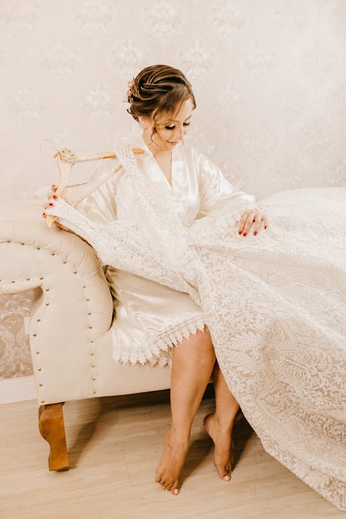
[[[39,401],[51,403],[61,400],[50,392],[47,401],[46,383],[83,385],[80,376],[90,371],[89,349],[111,327],[113,299],[93,248],[55,225],[48,229],[41,213],[39,200],[1,203],[0,292],[34,289],[30,350]],[[84,383],[84,393],[93,396],[90,381]]]

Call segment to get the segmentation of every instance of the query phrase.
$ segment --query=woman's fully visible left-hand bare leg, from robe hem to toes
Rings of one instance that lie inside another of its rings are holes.
[[[206,326],[191,334],[172,352],[170,401],[172,426],[167,430],[165,449],[156,468],[155,481],[179,493],[179,477],[188,454],[190,432],[199,404],[215,365],[215,351]]]

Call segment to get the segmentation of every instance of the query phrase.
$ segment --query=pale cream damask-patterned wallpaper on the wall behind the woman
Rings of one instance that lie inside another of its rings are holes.
[[[127,81],[187,75],[188,139],[257,200],[346,183],[345,0],[1,0],[1,199],[42,197],[52,156],[131,145]],[[33,294],[0,295],[0,377],[31,374]]]

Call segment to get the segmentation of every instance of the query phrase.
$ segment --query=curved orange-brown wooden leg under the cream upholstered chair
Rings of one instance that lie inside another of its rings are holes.
[[[66,471],[69,466],[62,403],[39,406],[39,432],[51,447],[48,457],[50,471]]]

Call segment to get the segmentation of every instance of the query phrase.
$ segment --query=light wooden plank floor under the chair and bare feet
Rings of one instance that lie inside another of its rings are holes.
[[[327,519],[345,518],[264,452],[241,419],[230,482],[212,464],[202,419],[214,408],[208,387],[194,421],[177,496],[154,481],[170,426],[169,392],[66,402],[69,471],[47,468],[37,402],[0,406],[1,519]]]

